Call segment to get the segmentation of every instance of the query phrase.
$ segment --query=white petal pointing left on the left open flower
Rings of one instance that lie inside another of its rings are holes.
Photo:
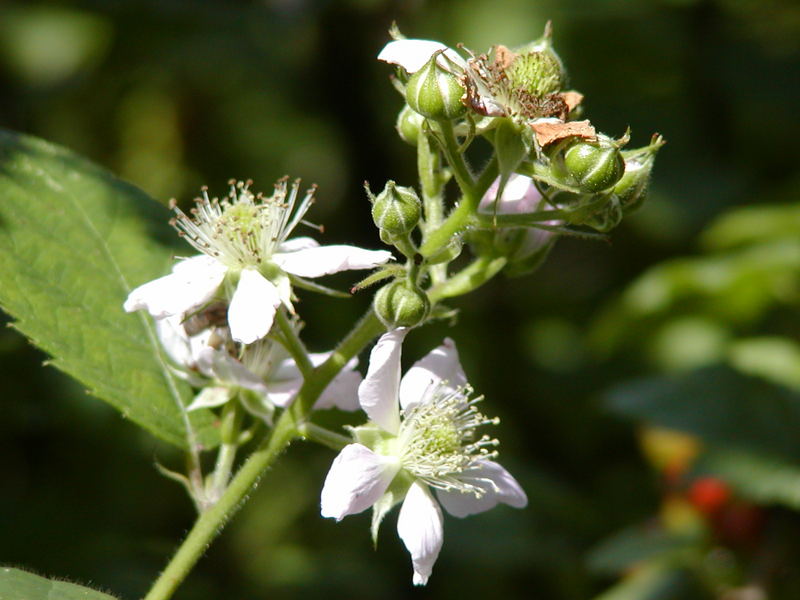
[[[206,255],[184,259],[171,274],[132,290],[123,308],[145,309],[156,319],[182,314],[210,300],[226,272],[225,265]]]

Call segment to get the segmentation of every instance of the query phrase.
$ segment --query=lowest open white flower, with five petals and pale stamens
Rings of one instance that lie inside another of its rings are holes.
[[[356,429],[358,443],[345,446],[333,461],[321,512],[338,521],[372,506],[375,537],[384,515],[402,501],[397,532],[411,554],[414,583],[424,585],[442,547],[439,503],[465,517],[499,502],[522,508],[528,500],[519,483],[492,460],[497,441],[475,437],[477,427],[496,420],[476,410],[480,398],[470,399],[472,390],[452,340],[401,379],[406,332],[384,334],[372,350],[358,394],[374,425]]]

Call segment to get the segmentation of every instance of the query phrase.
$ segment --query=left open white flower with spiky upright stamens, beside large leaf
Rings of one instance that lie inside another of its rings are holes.
[[[298,190],[299,182],[289,188],[282,179],[275,193],[265,198],[254,195],[249,183],[238,182],[222,201],[209,199],[204,189],[191,215],[176,207],[173,224],[203,254],[181,260],[170,275],[134,289],[125,310],[144,309],[163,319],[186,315],[224,296],[230,300],[231,336],[251,344],[269,333],[281,304],[292,310],[290,276],[370,269],[392,258],[387,250],[320,246],[307,237],[287,239],[303,222],[314,197],[312,187],[295,207]]]

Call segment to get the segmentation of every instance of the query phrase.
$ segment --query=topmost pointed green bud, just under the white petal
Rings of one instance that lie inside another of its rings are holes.
[[[429,119],[449,121],[463,115],[467,107],[461,101],[466,89],[458,77],[442,67],[441,52],[435,53],[406,84],[406,102]]]

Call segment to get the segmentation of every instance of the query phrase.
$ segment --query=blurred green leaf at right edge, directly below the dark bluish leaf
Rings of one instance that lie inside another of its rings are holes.
[[[711,448],[695,467],[712,473],[757,504],[783,504],[800,510],[800,465],[783,458]]]

